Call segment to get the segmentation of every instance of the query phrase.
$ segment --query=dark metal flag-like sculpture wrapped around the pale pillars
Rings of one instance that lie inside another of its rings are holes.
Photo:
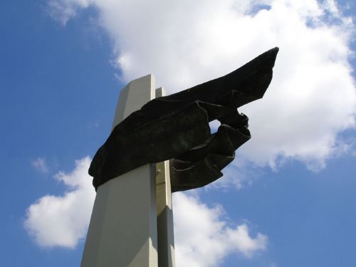
[[[97,189],[147,163],[170,160],[172,192],[203,187],[222,176],[235,150],[251,138],[237,108],[263,97],[278,48],[223,77],[151,100],[112,130],[90,165]],[[211,134],[209,122],[221,125]]]

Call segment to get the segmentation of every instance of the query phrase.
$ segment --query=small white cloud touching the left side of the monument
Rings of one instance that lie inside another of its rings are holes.
[[[85,157],[75,162],[73,172],[55,175],[68,187],[63,196],[46,195],[28,207],[24,226],[39,246],[75,248],[85,236],[95,198],[89,164]]]

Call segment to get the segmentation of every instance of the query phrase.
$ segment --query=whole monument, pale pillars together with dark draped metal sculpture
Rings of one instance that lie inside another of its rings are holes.
[[[89,169],[97,196],[82,267],[174,266],[171,192],[219,179],[251,138],[237,108],[263,97],[277,53],[172,95],[155,90],[152,75],[122,90],[112,132]],[[215,133],[212,120],[221,122]]]

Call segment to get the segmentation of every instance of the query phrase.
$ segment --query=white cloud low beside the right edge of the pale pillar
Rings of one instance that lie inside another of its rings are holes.
[[[174,242],[177,266],[219,266],[230,253],[252,257],[267,246],[267,236],[255,238],[248,226],[229,226],[221,206],[209,208],[197,197],[173,194]]]

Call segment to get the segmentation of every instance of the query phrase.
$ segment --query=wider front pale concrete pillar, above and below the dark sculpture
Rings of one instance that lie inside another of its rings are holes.
[[[120,93],[113,127],[153,98],[152,75],[132,80]],[[81,267],[158,266],[155,177],[155,164],[146,164],[98,187]]]

